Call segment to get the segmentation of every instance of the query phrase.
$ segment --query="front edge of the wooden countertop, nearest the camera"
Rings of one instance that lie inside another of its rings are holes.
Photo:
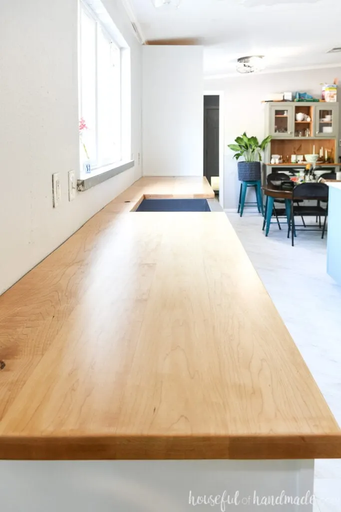
[[[324,435],[0,437],[3,460],[278,460],[341,458]]]

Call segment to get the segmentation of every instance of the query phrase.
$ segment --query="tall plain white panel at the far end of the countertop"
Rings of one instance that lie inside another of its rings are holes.
[[[201,47],[143,47],[145,176],[203,175],[202,95]]]

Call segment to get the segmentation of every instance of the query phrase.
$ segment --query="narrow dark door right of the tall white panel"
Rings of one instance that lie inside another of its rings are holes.
[[[203,175],[219,176],[219,96],[204,96]]]

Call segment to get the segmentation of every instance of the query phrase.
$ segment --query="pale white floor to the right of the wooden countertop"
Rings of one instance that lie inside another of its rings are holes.
[[[326,272],[326,240],[299,231],[295,246],[271,224],[262,231],[260,214],[228,213],[249,258],[341,425],[341,286]],[[314,512],[341,511],[341,459],[317,460]]]

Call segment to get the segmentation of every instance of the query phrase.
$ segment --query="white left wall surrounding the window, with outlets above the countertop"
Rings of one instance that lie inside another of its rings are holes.
[[[141,153],[142,50],[120,2],[103,0],[131,48],[132,152]],[[0,3],[0,293],[141,176],[127,170],[69,203],[79,169],[77,0]],[[52,174],[62,197],[52,208]]]

